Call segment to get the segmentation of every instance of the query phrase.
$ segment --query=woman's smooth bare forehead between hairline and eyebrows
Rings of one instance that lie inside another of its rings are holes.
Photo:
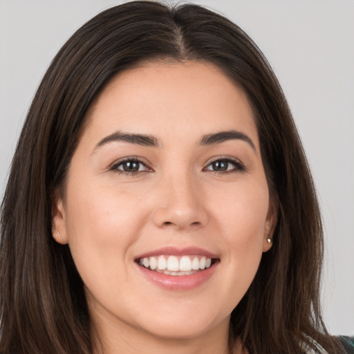
[[[115,76],[89,109],[86,130],[117,129],[162,138],[237,129],[258,144],[247,96],[205,62],[151,62]]]

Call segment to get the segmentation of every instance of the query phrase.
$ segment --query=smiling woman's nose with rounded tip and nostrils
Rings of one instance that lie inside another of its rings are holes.
[[[166,178],[161,181],[158,207],[153,222],[158,227],[172,227],[176,230],[196,229],[207,224],[201,186],[186,174],[180,178]]]

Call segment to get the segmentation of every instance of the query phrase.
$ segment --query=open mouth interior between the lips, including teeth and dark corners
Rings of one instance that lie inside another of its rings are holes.
[[[147,270],[167,275],[192,275],[210,268],[218,259],[205,256],[154,256],[142,257],[136,262]]]

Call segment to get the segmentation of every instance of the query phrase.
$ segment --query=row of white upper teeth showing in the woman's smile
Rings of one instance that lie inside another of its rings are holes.
[[[183,256],[178,259],[176,256],[158,256],[145,257],[139,259],[140,265],[145,268],[155,270],[169,270],[171,272],[189,272],[190,270],[199,270],[209,268],[212,265],[212,259],[207,257]]]

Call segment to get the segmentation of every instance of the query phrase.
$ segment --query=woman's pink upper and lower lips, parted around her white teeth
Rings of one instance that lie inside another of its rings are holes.
[[[159,255],[166,255],[166,256],[201,255],[214,260],[215,259],[218,260],[218,256],[216,254],[203,250],[202,248],[165,247],[165,248],[160,248],[158,250],[153,250],[151,252],[146,252],[144,254],[140,254],[138,257],[136,257],[136,261],[140,258],[154,257]],[[194,274],[178,275],[178,276],[154,272],[152,270],[149,270],[139,265],[138,262],[136,262],[136,266],[138,267],[138,270],[142,272],[142,275],[147,280],[155,283],[157,286],[160,286],[161,288],[164,288],[166,290],[176,291],[176,290],[191,290],[193,288],[197,288],[198,286],[201,286],[202,283],[205,283],[210,277],[212,277],[212,274],[214,274],[214,271],[216,270],[218,263],[219,263],[218,261],[215,261],[212,263],[212,265],[209,268],[205,268],[204,270],[200,270]]]

